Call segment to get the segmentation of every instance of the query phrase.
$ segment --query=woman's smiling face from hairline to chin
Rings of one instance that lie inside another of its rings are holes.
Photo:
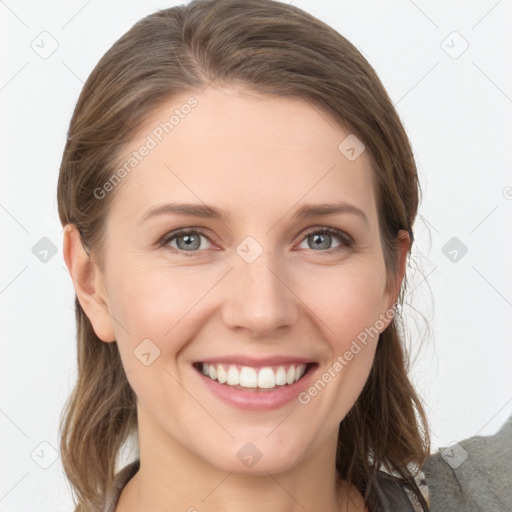
[[[152,146],[108,192],[105,308],[86,312],[118,343],[148,451],[235,472],[334,458],[396,300],[349,135],[302,100],[210,86],[126,149]]]

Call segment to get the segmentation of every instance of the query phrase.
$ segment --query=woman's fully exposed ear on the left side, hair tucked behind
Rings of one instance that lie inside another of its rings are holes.
[[[100,268],[82,244],[74,224],[64,227],[63,256],[73,280],[80,305],[91,321],[94,332],[102,341],[116,340],[108,296]]]

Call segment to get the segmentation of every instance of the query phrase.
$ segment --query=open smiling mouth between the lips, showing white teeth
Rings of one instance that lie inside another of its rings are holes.
[[[204,377],[230,388],[268,392],[292,386],[317,366],[316,363],[284,363],[269,366],[244,366],[232,363],[193,364]]]

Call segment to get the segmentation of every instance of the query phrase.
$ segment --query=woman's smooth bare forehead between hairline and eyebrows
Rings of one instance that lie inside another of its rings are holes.
[[[113,209],[131,218],[179,200],[275,218],[294,205],[346,201],[375,219],[370,158],[347,158],[351,137],[301,99],[213,86],[182,94],[152,112],[123,152],[130,170]]]

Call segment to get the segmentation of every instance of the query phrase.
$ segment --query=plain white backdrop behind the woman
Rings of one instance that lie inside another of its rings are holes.
[[[97,61],[177,3],[0,1],[1,512],[71,510],[57,453],[75,378],[60,159]],[[414,148],[423,201],[404,315],[433,449],[493,434],[512,413],[512,2],[293,4],[360,49]]]

